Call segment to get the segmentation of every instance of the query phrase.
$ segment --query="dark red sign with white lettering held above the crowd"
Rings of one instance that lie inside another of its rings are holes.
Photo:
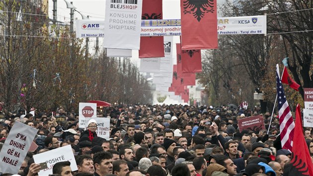
[[[251,130],[251,131],[265,130],[263,116],[256,115],[238,119],[238,127],[240,132],[242,130]]]

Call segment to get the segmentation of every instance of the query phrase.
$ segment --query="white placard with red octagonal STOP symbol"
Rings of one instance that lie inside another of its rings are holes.
[[[92,111],[92,112],[91,112]],[[85,118],[97,117],[97,103],[79,103],[79,128],[85,127]]]

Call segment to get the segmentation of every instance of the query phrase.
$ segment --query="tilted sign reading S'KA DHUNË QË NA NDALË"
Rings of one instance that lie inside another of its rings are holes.
[[[0,172],[17,174],[38,129],[16,121],[0,152]]]

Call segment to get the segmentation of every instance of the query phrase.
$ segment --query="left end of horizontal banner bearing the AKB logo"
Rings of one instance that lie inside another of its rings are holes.
[[[104,20],[77,19],[76,37],[104,37]]]

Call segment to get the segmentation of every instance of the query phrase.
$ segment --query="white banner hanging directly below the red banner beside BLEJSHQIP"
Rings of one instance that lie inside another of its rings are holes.
[[[140,59],[140,72],[159,73],[161,60],[160,58],[143,58]]]

